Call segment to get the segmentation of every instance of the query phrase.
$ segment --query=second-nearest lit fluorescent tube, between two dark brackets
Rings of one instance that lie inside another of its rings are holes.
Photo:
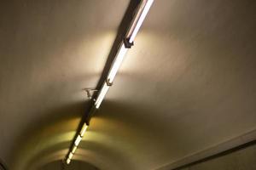
[[[122,42],[121,45],[120,45],[119,51],[118,51],[118,53],[117,53],[117,55],[116,55],[116,57],[113,61],[113,65],[111,66],[111,69],[108,73],[108,81],[110,83],[113,82],[113,79],[114,79],[117,71],[119,71],[119,67],[122,64],[122,61],[125,57],[125,54],[126,54],[127,50],[128,49],[125,48],[124,42]]]

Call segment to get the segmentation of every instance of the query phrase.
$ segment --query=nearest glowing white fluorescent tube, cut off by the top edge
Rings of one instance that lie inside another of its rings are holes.
[[[146,2],[145,7],[143,8],[143,12],[142,12],[142,14],[140,15],[139,20],[137,20],[137,24],[136,24],[134,30],[133,30],[132,33],[131,33],[131,37],[130,37],[130,39],[129,39],[129,42],[133,42],[133,41],[134,41],[134,39],[135,39],[135,37],[136,37],[136,35],[137,35],[137,32],[139,31],[140,27],[142,26],[143,20],[145,20],[146,15],[148,14],[148,10],[149,10],[149,8],[151,7],[151,5],[152,5],[153,2],[154,2],[154,0],[148,0],[148,1]]]

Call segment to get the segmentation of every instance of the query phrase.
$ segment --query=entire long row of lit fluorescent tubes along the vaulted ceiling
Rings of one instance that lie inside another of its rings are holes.
[[[129,27],[125,38],[119,45],[119,49],[115,58],[113,59],[112,65],[110,70],[108,71],[108,77],[106,81],[102,84],[102,88],[99,91],[94,103],[94,107],[99,109],[100,105],[102,104],[102,100],[104,99],[105,95],[108,93],[108,89],[113,84],[114,77],[116,76],[117,72],[119,71],[119,67],[122,64],[122,61],[125,57],[128,48],[131,48],[133,45],[133,41],[137,36],[137,32],[139,31],[140,27],[143,24],[143,20],[145,20],[146,15],[148,14],[148,10],[151,7],[154,0],[142,0],[140,3],[139,8],[137,9],[137,13],[134,15],[134,18],[131,21],[131,26]],[[90,111],[94,110],[91,108]],[[93,111],[92,111],[93,112]],[[88,127],[88,122],[84,122],[83,126],[79,129],[79,133],[75,136],[73,145],[69,150],[66,158],[66,163],[69,164],[77,150],[79,143],[81,142],[84,133]]]

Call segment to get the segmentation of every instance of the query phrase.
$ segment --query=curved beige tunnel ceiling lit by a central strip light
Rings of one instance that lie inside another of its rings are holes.
[[[128,0],[4,1],[0,159],[67,154]],[[75,160],[157,169],[256,130],[256,3],[156,0]],[[241,139],[242,140],[242,139]]]

